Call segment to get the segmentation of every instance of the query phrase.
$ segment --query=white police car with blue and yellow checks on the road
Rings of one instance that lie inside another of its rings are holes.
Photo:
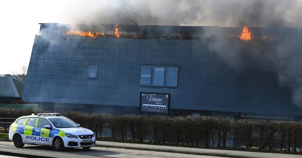
[[[9,139],[16,147],[24,144],[53,146],[55,150],[95,146],[95,133],[59,113],[22,116],[10,126]]]

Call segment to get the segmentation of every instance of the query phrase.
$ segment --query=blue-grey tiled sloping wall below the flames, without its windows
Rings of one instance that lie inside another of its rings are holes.
[[[54,39],[35,39],[23,101],[138,107],[146,91],[171,93],[175,109],[301,113],[273,73],[228,68],[207,41]],[[140,64],[179,66],[178,88],[139,86]],[[87,79],[88,65],[98,79]]]

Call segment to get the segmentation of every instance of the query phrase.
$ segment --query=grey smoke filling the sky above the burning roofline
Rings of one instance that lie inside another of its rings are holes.
[[[242,27],[302,27],[301,0],[72,1],[66,23]]]

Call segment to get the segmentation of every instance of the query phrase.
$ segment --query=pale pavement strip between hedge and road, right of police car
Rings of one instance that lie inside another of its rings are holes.
[[[169,152],[169,153],[185,153],[185,154],[205,155],[205,156],[232,157],[232,158],[302,158],[302,155],[283,154],[283,153],[261,153],[261,152],[236,151],[236,150],[172,147],[172,146],[148,145],[148,144],[118,143],[118,142],[111,142],[111,141],[96,141],[96,146],[115,147],[115,148],[133,149],[133,150],[159,151],[159,152]]]

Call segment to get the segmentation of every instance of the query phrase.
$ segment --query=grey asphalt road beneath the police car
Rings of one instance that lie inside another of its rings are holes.
[[[13,142],[0,141],[0,151],[11,153],[23,153],[28,155],[49,156],[58,158],[221,158],[216,156],[200,156],[182,153],[167,153],[156,151],[130,150],[106,147],[92,147],[88,151],[82,148],[66,149],[63,152],[54,151],[52,147],[36,145],[24,145],[23,148],[16,148]],[[16,158],[0,155],[0,158]]]

